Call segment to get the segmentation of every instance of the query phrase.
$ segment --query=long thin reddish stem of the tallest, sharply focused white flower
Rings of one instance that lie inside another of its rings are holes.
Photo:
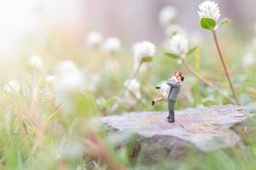
[[[237,99],[237,97],[236,97],[235,88],[233,87],[233,84],[232,84],[231,79],[230,79],[229,71],[228,71],[227,66],[226,66],[226,64],[225,64],[225,62],[224,62],[224,57],[223,57],[223,55],[221,54],[221,50],[220,50],[220,48],[219,48],[219,45],[218,45],[218,38],[217,38],[217,35],[216,35],[216,31],[215,31],[215,30],[212,30],[212,36],[213,36],[213,39],[214,39],[216,48],[217,48],[217,50],[218,50],[219,58],[220,58],[221,63],[222,63],[222,65],[223,65],[223,67],[224,67],[224,71],[225,71],[226,77],[228,78],[228,81],[229,81],[229,84],[230,84],[230,88],[231,88],[231,90],[232,90],[232,94],[233,94],[233,96],[234,96],[234,98],[235,98],[235,100],[236,100],[236,105],[240,105],[240,104],[239,104],[239,101],[238,101],[238,99]]]

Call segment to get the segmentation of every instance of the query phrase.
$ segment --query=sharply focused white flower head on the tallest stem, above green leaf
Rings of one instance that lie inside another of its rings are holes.
[[[212,1],[205,1],[199,5],[198,14],[200,19],[211,18],[217,21],[220,17],[218,4]]]

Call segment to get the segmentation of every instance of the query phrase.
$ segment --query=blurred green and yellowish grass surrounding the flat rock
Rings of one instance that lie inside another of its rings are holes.
[[[166,111],[166,102],[151,107],[150,101],[157,96],[155,85],[171,77],[175,70],[182,70],[185,76],[176,109],[229,103],[218,91],[201,83],[183,65],[177,65],[176,59],[167,58],[164,51],[158,48],[151,68],[137,75],[141,83],[141,102],[146,106],[138,102],[136,105],[128,105],[124,98],[119,98],[119,94],[125,80],[131,75],[133,64],[130,51],[110,55],[73,46],[62,36],[49,34],[46,37],[47,45],[44,46],[32,43],[32,40],[24,42],[21,59],[10,64],[9,70],[5,70],[5,67],[1,69],[2,87],[10,79],[15,78],[20,82],[18,91],[6,93],[3,88],[0,91],[1,169],[107,169],[108,166],[148,168],[132,161],[131,145],[115,147],[113,141],[121,137],[102,132],[98,126],[91,125],[89,120],[125,111]],[[244,46],[249,44],[249,40],[241,40],[241,37],[241,32],[230,31],[230,28],[220,32],[220,41],[236,93],[241,104],[246,105],[256,99],[256,65],[247,68],[241,66],[241,56],[246,52]],[[42,56],[48,69],[35,71],[27,65],[27,56],[34,53]],[[92,83],[91,77],[85,78],[85,86],[94,89],[88,88],[82,93],[73,94],[68,100],[72,109],[68,111],[65,105],[56,105],[54,87],[44,80],[46,75],[55,73],[55,67],[62,59],[73,59],[80,70],[98,77],[96,83]],[[104,63],[108,59],[119,62],[119,69],[106,70]],[[197,73],[207,77],[224,94],[232,97],[210,36],[206,36],[200,48],[190,54],[186,61]],[[254,125],[250,124],[251,127]],[[255,135],[242,138],[247,141],[247,150],[216,150],[207,156],[192,154],[186,161],[163,160],[163,164],[156,164],[152,168],[253,169],[256,165]]]

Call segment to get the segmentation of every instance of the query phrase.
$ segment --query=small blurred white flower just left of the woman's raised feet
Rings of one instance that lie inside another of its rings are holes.
[[[125,82],[125,87],[128,89],[125,92],[126,102],[129,105],[136,105],[137,104],[137,99],[142,98],[142,94],[141,94],[141,91],[140,91],[141,85],[140,85],[139,82],[137,82],[136,79],[132,79],[129,86],[128,86],[128,82],[130,82],[130,79],[128,79]]]

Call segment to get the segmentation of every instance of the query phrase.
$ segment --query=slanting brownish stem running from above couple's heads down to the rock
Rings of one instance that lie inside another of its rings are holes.
[[[222,93],[220,91],[220,89],[218,89],[214,84],[212,84],[212,82],[207,81],[204,77],[202,77],[200,74],[198,74],[192,67],[190,67],[188,65],[188,63],[185,61],[185,59],[182,59],[182,63],[184,65],[184,67],[191,74],[193,74],[195,77],[197,77],[201,82],[204,82],[205,84],[207,84],[207,86],[216,89],[218,91],[218,94],[222,95],[225,99],[228,99],[231,103],[236,104],[236,101],[234,101],[233,99],[230,99],[228,96],[226,96],[224,93]]]

